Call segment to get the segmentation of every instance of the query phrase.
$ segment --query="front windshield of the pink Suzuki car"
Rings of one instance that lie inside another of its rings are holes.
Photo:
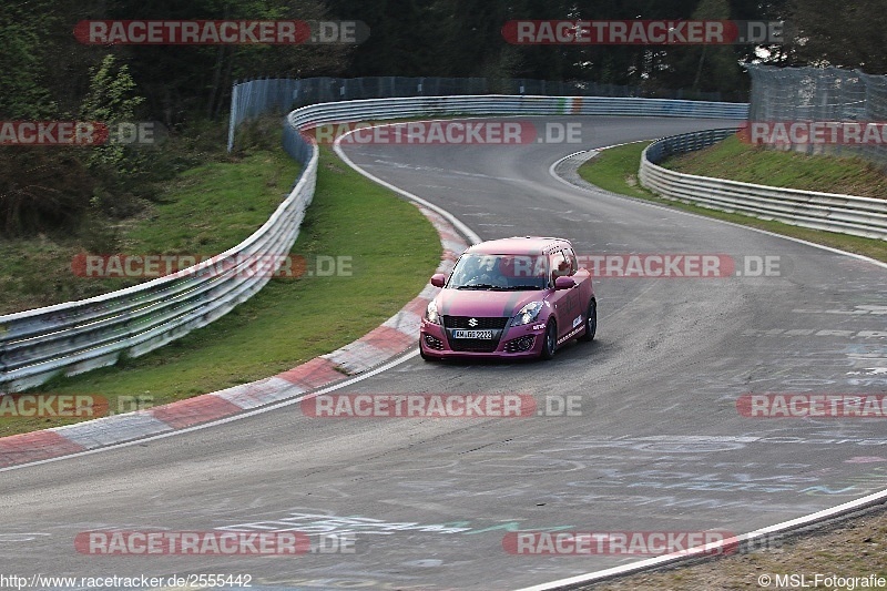
[[[452,269],[452,289],[527,291],[548,287],[544,256],[465,254]]]

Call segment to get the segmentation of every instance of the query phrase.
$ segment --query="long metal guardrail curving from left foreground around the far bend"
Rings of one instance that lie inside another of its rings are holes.
[[[286,255],[298,236],[317,180],[319,151],[300,128],[445,115],[747,116],[747,104],[594,96],[422,96],[322,103],[293,111],[284,147],[305,167],[289,196],[252,236],[211,261],[102,296],[0,316],[0,391],[38,386],[136,357],[225,315],[258,292],[268,274],[244,272],[249,258]],[[245,261],[245,262],[244,262]],[[217,273],[218,265],[231,268]]]

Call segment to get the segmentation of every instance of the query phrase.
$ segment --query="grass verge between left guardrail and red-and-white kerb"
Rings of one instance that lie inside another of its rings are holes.
[[[220,171],[241,165],[224,164]],[[228,172],[251,184],[256,177],[249,170]],[[195,236],[210,236],[201,246],[221,251],[227,238],[213,236],[200,218],[201,207],[210,203],[205,200],[220,203],[215,200],[221,197],[206,195],[220,187],[220,180],[201,173],[186,179],[187,194],[198,204],[182,198],[176,208],[191,212],[186,220]],[[224,190],[237,198],[236,183]],[[161,225],[139,232],[150,236]],[[177,247],[190,247],[194,240],[182,232]],[[116,409],[121,395],[150,396],[156,406],[275,375],[350,343],[392,316],[428,283],[439,263],[440,243],[416,206],[323,149],[314,202],[292,253],[349,256],[351,275],[272,279],[227,316],[161,349],[32,391],[101,395]],[[0,436],[65,422],[75,420],[4,418]]]

